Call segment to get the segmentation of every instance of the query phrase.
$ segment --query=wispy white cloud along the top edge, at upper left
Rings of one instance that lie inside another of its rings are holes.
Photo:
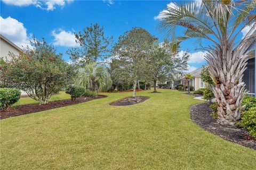
[[[5,4],[15,5],[15,6],[28,6],[35,5],[36,7],[42,8],[43,10],[53,11],[55,10],[55,6],[65,6],[66,3],[71,3],[73,0],[48,0],[48,1],[40,1],[40,0],[3,0]]]

